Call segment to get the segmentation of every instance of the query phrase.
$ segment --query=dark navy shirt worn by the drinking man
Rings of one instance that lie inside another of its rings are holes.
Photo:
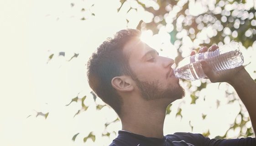
[[[215,140],[201,134],[185,132],[174,133],[159,139],[120,130],[110,146],[256,146],[256,140],[251,137]]]

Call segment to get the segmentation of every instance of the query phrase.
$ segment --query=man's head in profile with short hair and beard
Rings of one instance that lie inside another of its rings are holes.
[[[156,50],[141,42],[140,35],[133,29],[117,32],[97,48],[88,62],[90,87],[118,115],[123,97],[132,93],[140,94],[145,102],[167,99],[171,103],[184,96],[178,78],[172,74],[174,61],[158,56]]]

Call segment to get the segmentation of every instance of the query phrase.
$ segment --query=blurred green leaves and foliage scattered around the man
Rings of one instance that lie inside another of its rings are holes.
[[[175,58],[175,63],[179,63],[182,59],[183,45],[187,43],[184,41],[184,37],[189,37],[189,41],[196,44],[195,46],[206,46],[210,47],[212,44],[223,45],[229,43],[232,40],[236,42],[241,42],[242,45],[246,48],[251,47],[256,43],[256,4],[255,1],[253,5],[248,5],[247,0],[120,0],[120,6],[117,8],[117,11],[121,11],[125,3],[133,2],[134,5],[130,5],[130,8],[127,9],[126,13],[129,13],[131,10],[138,11],[139,8],[143,8],[145,11],[153,15],[151,21],[144,22],[143,20],[139,21],[137,29],[141,31],[151,30],[153,34],[157,34],[162,27],[165,27],[168,30],[170,37],[170,42],[176,47],[178,56]],[[75,3],[70,4],[74,8]],[[94,4],[91,5],[93,7]],[[195,12],[196,11],[196,12]],[[82,8],[81,13],[89,12],[90,16],[95,16],[97,13],[92,12],[89,8]],[[88,17],[82,17],[81,21],[86,21]],[[127,20],[127,26],[131,20]],[[195,47],[194,46],[194,47]],[[193,49],[199,49],[195,47]],[[50,54],[48,62],[52,59],[54,54]],[[65,52],[59,52],[59,56],[65,56]],[[71,57],[68,61],[78,57],[78,53],[74,53],[74,56]],[[256,73],[256,71],[254,72]],[[202,80],[201,80],[202,81]],[[255,79],[256,81],[256,79]],[[183,80],[183,82],[188,84],[189,89],[195,87],[195,90],[191,90],[190,104],[197,104],[197,99],[199,98],[198,92],[207,87],[207,82],[201,82],[199,86],[192,85],[189,81]],[[91,92],[93,95],[94,101],[97,96]],[[233,96],[230,98],[228,104],[235,101],[234,94],[226,92],[226,96]],[[84,99],[75,97],[71,99],[71,102],[66,106],[70,105],[73,102],[81,101],[81,110],[74,115],[80,114],[82,111],[87,110],[88,106],[85,106]],[[216,99],[216,106],[219,107],[220,101]],[[105,105],[96,104],[96,109],[101,110]],[[244,106],[240,104],[241,109]],[[172,110],[172,104],[167,107],[166,115],[169,115]],[[174,110],[173,110],[174,111]],[[241,137],[247,137],[253,135],[252,127],[246,126],[247,122],[250,122],[248,116],[245,116],[246,111],[241,110],[237,115],[234,123],[230,125],[230,129],[226,131],[224,136],[216,136],[216,139],[226,138],[227,133],[230,130],[238,129],[240,130]],[[178,107],[176,117],[183,118],[182,109]],[[207,118],[207,115],[202,111],[202,119]],[[111,123],[119,121],[116,120],[105,123],[105,128],[108,127]],[[193,130],[193,123],[189,121],[189,125]],[[111,133],[115,131],[108,132],[104,131],[102,136],[110,137]],[[72,140],[75,141],[76,136],[79,133],[73,136]],[[207,130],[205,133],[202,133],[204,136],[209,136],[210,131]],[[84,137],[84,142],[88,139],[95,141],[95,136],[93,132],[89,133],[88,136]]]

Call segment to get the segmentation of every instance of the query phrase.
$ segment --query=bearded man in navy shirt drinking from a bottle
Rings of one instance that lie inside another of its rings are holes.
[[[217,48],[203,47],[199,52]],[[110,146],[256,146],[251,137],[210,140],[201,134],[181,132],[163,136],[167,106],[184,96],[173,74],[173,63],[173,59],[159,56],[141,42],[140,31],[133,29],[117,32],[93,53],[88,62],[89,85],[115,110],[122,123],[122,130]],[[214,73],[205,61],[201,66],[211,82],[227,82],[235,88],[256,131],[256,83],[245,68]]]

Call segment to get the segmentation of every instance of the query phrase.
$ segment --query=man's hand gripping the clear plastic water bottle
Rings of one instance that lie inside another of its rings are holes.
[[[207,51],[213,52],[217,48],[219,48],[219,47],[216,45],[209,47],[209,49],[207,49],[207,47],[202,47],[201,49],[199,49],[198,53],[207,52]],[[190,53],[190,56],[195,55],[195,54],[196,54],[196,51],[193,50]],[[204,70],[205,75],[207,76],[207,78],[210,79],[210,81],[212,83],[216,83],[216,82],[232,83],[232,81],[235,78],[238,78],[240,76],[239,75],[240,73],[246,72],[246,70],[243,66],[233,68],[233,69],[224,70],[224,71],[215,72],[206,61],[200,61],[200,63]]]

